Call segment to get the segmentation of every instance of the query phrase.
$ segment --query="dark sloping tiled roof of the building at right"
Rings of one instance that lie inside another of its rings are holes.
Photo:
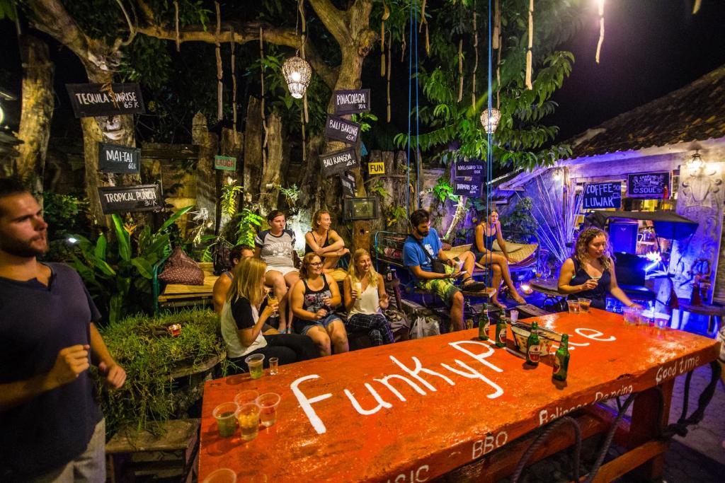
[[[725,137],[725,65],[566,141],[571,158]]]

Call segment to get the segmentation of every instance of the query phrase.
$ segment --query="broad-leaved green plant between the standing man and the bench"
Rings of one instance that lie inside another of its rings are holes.
[[[155,232],[144,227],[136,237],[132,237],[136,225],[124,224],[117,214],[111,215],[115,238],[110,242],[106,235],[95,243],[75,235],[78,250],[72,256],[73,266],[109,322],[151,308],[154,265],[170,253],[169,227],[190,209],[176,211]]]

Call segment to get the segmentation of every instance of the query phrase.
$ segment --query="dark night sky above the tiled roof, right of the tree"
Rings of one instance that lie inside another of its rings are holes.
[[[585,0],[592,1],[595,0]],[[725,64],[725,1],[606,0],[600,64],[596,12],[560,49],[573,52],[571,77],[554,94],[558,140],[684,87]]]

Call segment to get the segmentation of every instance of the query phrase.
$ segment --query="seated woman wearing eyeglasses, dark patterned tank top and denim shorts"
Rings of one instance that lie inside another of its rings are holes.
[[[323,272],[317,253],[307,253],[299,269],[299,282],[291,295],[294,331],[307,335],[320,350],[320,356],[347,352],[347,332],[335,307],[341,301],[337,282]]]

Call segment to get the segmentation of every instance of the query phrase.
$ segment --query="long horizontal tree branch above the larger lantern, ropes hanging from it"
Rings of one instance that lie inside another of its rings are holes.
[[[148,20],[146,16],[146,20]],[[186,25],[179,30],[179,41],[181,42],[204,42],[215,43],[231,42],[239,44],[258,41],[260,39],[260,26],[264,29],[265,41],[275,43],[281,46],[289,46],[294,49],[299,48],[299,35],[291,28],[280,28],[273,25],[263,24],[260,22],[248,22],[241,24],[239,22],[222,22],[222,32],[217,37],[215,33],[204,30],[201,25]],[[148,35],[149,37],[160,38],[162,40],[175,41],[176,32],[161,25],[151,24],[138,26],[138,33]],[[305,44],[305,54],[307,60],[312,64],[315,72],[322,78],[326,85],[333,89],[339,76],[339,68],[328,66],[318,53],[315,46],[309,42]]]

